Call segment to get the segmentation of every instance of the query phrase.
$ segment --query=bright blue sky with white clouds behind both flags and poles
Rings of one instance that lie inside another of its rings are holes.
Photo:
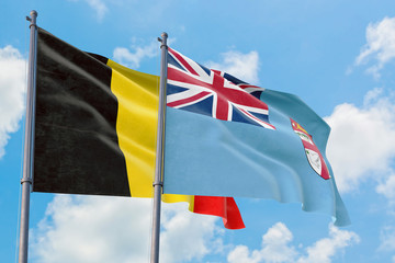
[[[156,38],[201,64],[302,98],[331,126],[327,157],[352,225],[237,198],[244,230],[162,210],[162,262],[395,262],[395,2],[0,2],[0,259],[15,262],[29,23],[159,75]],[[150,199],[33,193],[31,262],[148,262]]]

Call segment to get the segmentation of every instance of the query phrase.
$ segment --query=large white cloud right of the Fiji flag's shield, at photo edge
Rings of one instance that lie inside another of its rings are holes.
[[[356,190],[368,179],[390,180],[393,174],[395,95],[383,92],[374,89],[366,93],[363,106],[343,103],[325,118],[331,127],[328,159],[341,192]]]

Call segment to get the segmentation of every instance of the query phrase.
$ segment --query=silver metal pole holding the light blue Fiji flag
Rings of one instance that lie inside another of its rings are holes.
[[[165,113],[166,113],[166,82],[167,82],[167,38],[168,34],[162,33],[161,42],[161,62],[160,62],[160,85],[159,85],[159,108],[158,108],[158,133],[154,182],[154,210],[153,210],[153,237],[151,237],[151,263],[159,262],[159,238],[160,238],[160,204],[162,192],[162,170],[163,170],[163,138],[165,138]]]

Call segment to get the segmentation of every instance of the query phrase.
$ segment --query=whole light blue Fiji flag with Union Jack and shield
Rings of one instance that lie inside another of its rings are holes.
[[[168,54],[163,192],[300,202],[349,224],[329,126],[297,96]]]

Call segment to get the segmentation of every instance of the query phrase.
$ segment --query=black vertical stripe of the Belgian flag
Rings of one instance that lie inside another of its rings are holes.
[[[129,196],[105,58],[37,39],[34,191]]]

